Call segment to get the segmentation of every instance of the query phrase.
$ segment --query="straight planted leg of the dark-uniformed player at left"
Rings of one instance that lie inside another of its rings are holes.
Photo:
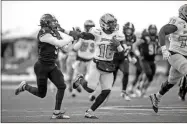
[[[60,112],[64,92],[66,89],[66,84],[64,83],[64,76],[57,66],[49,73],[49,79],[57,87],[55,109],[52,118],[69,119],[69,116],[64,115],[64,113]]]

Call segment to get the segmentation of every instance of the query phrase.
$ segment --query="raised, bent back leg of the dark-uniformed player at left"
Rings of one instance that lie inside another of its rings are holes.
[[[15,91],[15,94],[18,95],[20,92],[28,91],[31,94],[44,98],[47,93],[47,75],[50,71],[50,67],[44,64],[41,64],[39,61],[34,65],[34,71],[37,79],[37,87],[30,86],[26,81],[22,81],[18,88]]]

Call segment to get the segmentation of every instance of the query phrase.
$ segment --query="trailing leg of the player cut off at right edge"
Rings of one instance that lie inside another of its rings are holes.
[[[162,96],[179,82],[182,76],[187,75],[187,59],[184,56],[174,54],[170,56],[168,61],[171,64],[168,80],[161,85],[158,93],[150,95],[155,112],[158,112],[158,103]]]

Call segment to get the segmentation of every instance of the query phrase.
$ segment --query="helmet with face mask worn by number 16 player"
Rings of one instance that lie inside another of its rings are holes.
[[[112,14],[104,14],[99,22],[101,29],[107,34],[111,34],[118,30],[117,19]]]

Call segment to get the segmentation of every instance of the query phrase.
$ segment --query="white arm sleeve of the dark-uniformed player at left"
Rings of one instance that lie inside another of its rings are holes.
[[[63,37],[63,39],[61,39],[61,40],[58,40],[57,38],[53,37],[51,34],[46,34],[46,35],[40,37],[39,39],[41,42],[46,42],[46,43],[52,44],[57,47],[63,47],[66,44],[73,41],[73,37],[71,37],[67,34],[60,32],[60,35]]]

